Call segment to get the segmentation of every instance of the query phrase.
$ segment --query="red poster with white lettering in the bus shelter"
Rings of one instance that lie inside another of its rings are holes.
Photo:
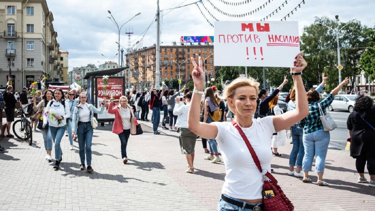
[[[98,120],[101,119],[114,119],[115,115],[108,113],[108,106],[110,104],[109,99],[111,94],[115,98],[114,106],[118,105],[120,96],[124,95],[124,78],[122,77],[110,77],[108,78],[107,90],[103,91],[104,83],[102,77],[96,78],[96,105],[101,105],[104,98],[107,99],[105,104],[104,112],[98,114]],[[99,106],[98,106],[99,107]]]

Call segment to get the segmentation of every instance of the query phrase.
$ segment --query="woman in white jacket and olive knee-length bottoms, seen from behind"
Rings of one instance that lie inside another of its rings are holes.
[[[181,153],[185,155],[189,169],[187,173],[194,173],[194,148],[196,134],[187,128],[187,116],[189,114],[190,100],[192,92],[185,95],[186,105],[180,104],[180,98],[176,98],[173,115],[177,115],[176,126],[178,127],[178,139],[180,139]]]

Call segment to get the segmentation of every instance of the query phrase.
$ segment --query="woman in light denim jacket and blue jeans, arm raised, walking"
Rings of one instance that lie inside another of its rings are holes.
[[[74,108],[72,119],[72,137],[76,131],[78,136],[78,145],[80,146],[81,170],[85,170],[85,151],[87,161],[87,172],[92,172],[94,169],[91,167],[91,143],[93,139],[93,127],[91,121],[94,113],[102,114],[106,99],[102,101],[101,109],[95,108],[94,105],[86,103],[86,93],[80,94],[80,104]]]

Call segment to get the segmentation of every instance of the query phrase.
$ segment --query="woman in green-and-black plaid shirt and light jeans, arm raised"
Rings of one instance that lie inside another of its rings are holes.
[[[347,83],[349,83],[349,78],[345,78],[339,86],[333,89],[332,92],[320,102],[320,95],[315,89],[310,89],[307,93],[309,115],[300,122],[300,127],[303,128],[303,146],[305,147],[305,155],[303,156],[302,161],[302,170],[305,172],[305,176],[303,177],[302,182],[311,182],[309,171],[311,171],[312,160],[315,155],[315,172],[318,173],[318,185],[328,185],[328,183],[323,180],[323,173],[324,166],[326,165],[330,133],[323,129],[323,124],[319,118],[320,111],[318,104],[320,104],[325,113],[328,105],[332,103],[334,96],[337,95],[342,86]]]

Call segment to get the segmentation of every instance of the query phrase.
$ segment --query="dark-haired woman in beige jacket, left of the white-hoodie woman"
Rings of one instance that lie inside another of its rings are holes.
[[[38,105],[36,105],[35,99],[33,99],[33,101],[34,101],[34,107],[33,107],[34,112],[37,113],[37,112],[40,112],[40,110],[42,110],[42,117],[41,118],[44,118],[43,114],[46,111],[47,104],[51,99],[52,99],[52,91],[51,90],[46,90],[46,92],[42,96],[42,101],[40,101],[38,103]],[[40,121],[42,121],[42,120],[40,120]],[[45,130],[41,130],[41,131],[42,131],[43,140],[44,140],[44,148],[47,152],[46,159],[47,159],[48,162],[51,162],[52,161],[51,152],[52,152],[52,145],[53,145],[51,131],[49,130],[49,128],[46,128]]]

